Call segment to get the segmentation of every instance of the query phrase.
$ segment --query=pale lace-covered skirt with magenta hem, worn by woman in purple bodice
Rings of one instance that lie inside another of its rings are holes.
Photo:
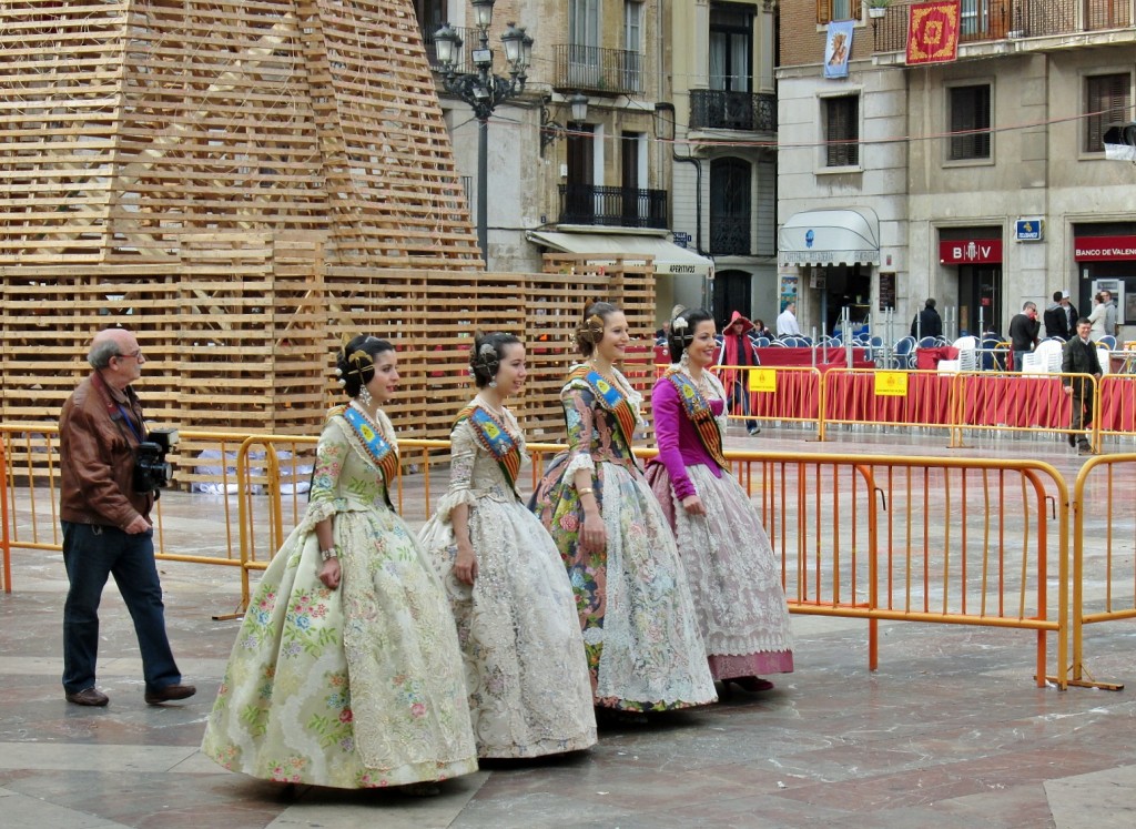
[[[675,528],[715,679],[787,673],[793,639],[780,567],[742,484],[703,464],[686,467],[705,507],[690,515],[661,463],[648,480]]]

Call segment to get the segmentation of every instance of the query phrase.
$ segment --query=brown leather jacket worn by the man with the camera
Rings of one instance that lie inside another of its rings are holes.
[[[153,494],[131,484],[140,434],[145,426],[133,389],[118,391],[98,373],[78,384],[59,414],[62,521],[125,530],[139,515],[150,520]]]

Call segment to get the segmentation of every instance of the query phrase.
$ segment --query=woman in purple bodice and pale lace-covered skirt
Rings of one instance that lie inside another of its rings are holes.
[[[646,476],[678,539],[711,673],[727,688],[768,690],[758,674],[793,670],[788,607],[769,538],[722,455],[713,318],[685,312],[668,341],[674,365],[651,393],[659,456]]]

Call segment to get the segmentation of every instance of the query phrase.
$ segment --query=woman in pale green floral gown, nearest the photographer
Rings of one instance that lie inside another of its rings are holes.
[[[307,513],[245,613],[202,751],[268,780],[421,793],[477,769],[461,654],[437,574],[387,497],[394,348],[357,337],[337,372],[352,399],[324,425]]]

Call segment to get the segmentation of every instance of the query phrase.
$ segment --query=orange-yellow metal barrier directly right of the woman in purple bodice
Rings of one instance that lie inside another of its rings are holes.
[[[970,458],[727,453],[759,494],[794,613],[1036,631],[1038,686],[1046,635],[1058,635],[1067,685],[1068,489],[1049,464]],[[1051,544],[1046,504],[1061,505]],[[1055,546],[1055,550],[1053,547]],[[1056,564],[1056,608],[1049,569]]]

